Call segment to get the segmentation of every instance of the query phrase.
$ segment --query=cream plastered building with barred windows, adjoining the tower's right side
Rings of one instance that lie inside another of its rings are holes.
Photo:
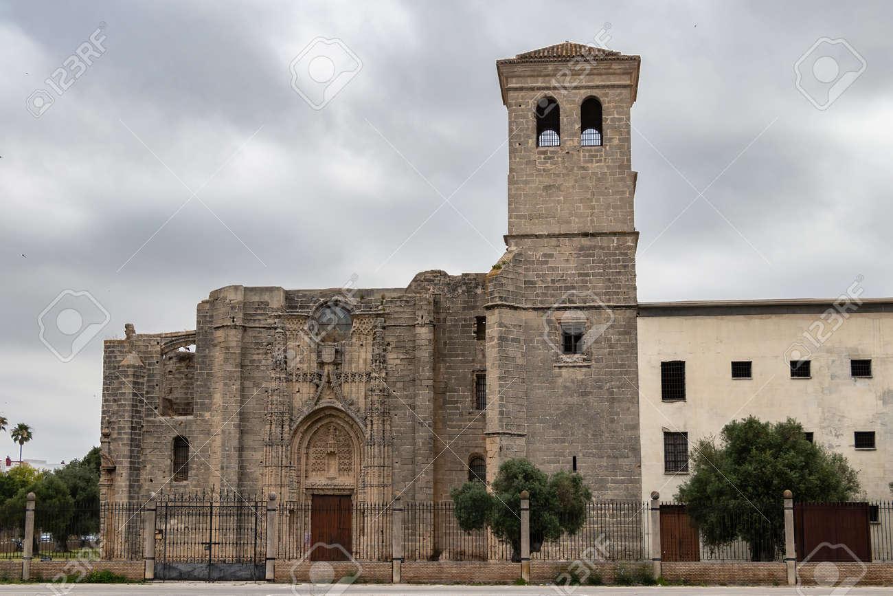
[[[796,418],[847,457],[865,497],[889,499],[893,299],[860,293],[855,282],[837,299],[640,304],[643,495],[671,499],[688,446],[752,415]]]

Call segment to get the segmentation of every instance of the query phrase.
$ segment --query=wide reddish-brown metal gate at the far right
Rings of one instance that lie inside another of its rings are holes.
[[[794,506],[797,560],[872,560],[868,503],[797,503]],[[846,546],[846,548],[844,548]]]

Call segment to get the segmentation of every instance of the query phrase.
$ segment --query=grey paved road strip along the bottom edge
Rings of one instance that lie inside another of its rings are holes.
[[[0,585],[0,594],[15,596],[46,596],[60,593],[71,593],[72,596],[114,596],[116,594],[145,594],[146,596],[179,596],[180,594],[196,594],[204,596],[339,596],[339,594],[355,596],[454,596],[469,594],[472,596],[561,596],[568,592],[555,592],[549,586],[460,586],[460,585],[353,585],[347,586],[346,592],[328,591],[333,586],[303,584],[297,586],[280,583],[150,583],[133,585],[101,585],[77,584],[71,586],[71,592],[54,592],[46,585]],[[334,586],[340,588],[342,586]],[[573,596],[830,596],[832,588],[807,588],[797,592],[795,588],[739,588],[739,587],[638,587],[638,588],[591,588],[580,586],[572,592]],[[853,588],[849,592],[840,592],[839,596],[880,596],[893,594],[893,587],[887,588]]]

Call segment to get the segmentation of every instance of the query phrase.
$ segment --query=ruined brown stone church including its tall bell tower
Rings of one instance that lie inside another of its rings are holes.
[[[227,286],[195,331],[106,340],[102,498],[438,501],[528,457],[639,499],[638,72],[567,42],[497,61],[508,233],[488,273]]]

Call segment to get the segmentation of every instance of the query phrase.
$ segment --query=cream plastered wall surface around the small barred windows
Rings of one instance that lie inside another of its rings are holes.
[[[651,491],[660,491],[662,500],[670,500],[688,477],[664,474],[664,430],[689,432],[690,455],[698,439],[718,436],[730,420],[751,415],[769,421],[796,418],[805,431],[815,433],[816,442],[847,457],[859,471],[867,498],[893,497],[889,491],[893,482],[889,450],[893,443],[893,346],[889,343],[893,312],[851,314],[820,348],[814,348],[802,335],[819,312],[639,316],[643,499]],[[812,348],[810,379],[790,378],[786,351],[797,340]],[[872,378],[852,378],[850,358],[871,358]],[[686,362],[685,402],[661,400],[661,361],[665,360]],[[732,360],[752,360],[753,378],[731,379]],[[877,449],[856,450],[854,431],[874,431]]]

